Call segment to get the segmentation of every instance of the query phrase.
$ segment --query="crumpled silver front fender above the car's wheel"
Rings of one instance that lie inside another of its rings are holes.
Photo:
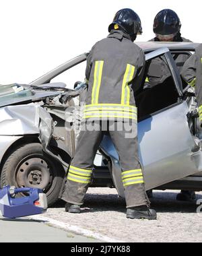
[[[61,158],[53,154],[48,146],[53,135],[54,121],[40,103],[31,103],[0,108],[0,160],[16,140],[25,135],[36,135],[42,143],[44,152],[68,166]]]

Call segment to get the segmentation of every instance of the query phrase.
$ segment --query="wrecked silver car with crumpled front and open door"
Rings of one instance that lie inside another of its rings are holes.
[[[136,96],[146,189],[201,191],[202,131],[195,91],[182,82],[173,58],[191,56],[198,44],[138,44],[146,56],[145,77],[151,60],[158,57],[164,57],[170,70],[163,85],[145,88]],[[81,79],[77,75],[83,77],[87,56],[84,53],[29,85],[0,86],[1,187],[37,187],[44,190],[49,205],[57,201],[79,134],[75,126],[79,127],[81,114],[77,109],[86,96],[84,83],[76,82],[74,90],[67,89],[68,74],[76,67],[75,81]],[[107,135],[94,162],[91,185],[116,187],[124,197],[119,156]]]

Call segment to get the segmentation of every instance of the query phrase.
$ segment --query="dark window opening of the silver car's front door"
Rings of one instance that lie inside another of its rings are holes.
[[[143,90],[135,96],[139,119],[172,106],[179,97],[166,55],[146,61],[145,77]]]

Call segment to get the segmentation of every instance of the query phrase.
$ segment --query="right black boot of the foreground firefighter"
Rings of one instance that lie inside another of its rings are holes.
[[[157,215],[155,210],[151,210],[146,205],[143,205],[127,209],[127,218],[156,220]]]

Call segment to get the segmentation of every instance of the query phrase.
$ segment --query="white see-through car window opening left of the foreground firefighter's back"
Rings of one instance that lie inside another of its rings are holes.
[[[85,79],[86,72],[86,61],[71,67],[67,71],[64,71],[57,77],[53,78],[50,82],[63,82],[66,84],[67,88],[73,89],[75,82],[83,82]]]

